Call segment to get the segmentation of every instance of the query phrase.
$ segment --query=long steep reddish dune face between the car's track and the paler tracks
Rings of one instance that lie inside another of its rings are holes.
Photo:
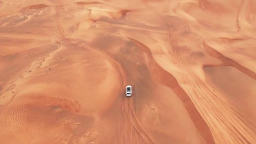
[[[214,140],[213,140],[213,137],[211,135],[211,131],[210,131],[208,125],[205,123],[202,116],[197,111],[195,105],[193,104],[193,102],[191,101],[191,99],[189,98],[187,93],[183,90],[183,88],[181,88],[181,86],[177,82],[176,78],[173,75],[171,75],[169,72],[167,72],[165,69],[163,69],[157,63],[157,61],[155,61],[155,59],[152,55],[152,52],[146,45],[144,45],[143,43],[141,43],[137,40],[134,40],[130,37],[128,37],[128,38],[135,45],[137,45],[138,48],[140,48],[144,53],[147,54],[147,58],[149,61],[149,66],[150,66],[149,69],[152,73],[153,79],[155,81],[157,81],[158,83],[168,86],[169,88],[171,88],[174,91],[174,93],[176,93],[176,95],[179,97],[179,99],[184,104],[184,107],[187,110],[191,120],[195,124],[197,130],[199,131],[199,133],[201,134],[201,136],[203,137],[205,142],[207,144],[213,144]]]

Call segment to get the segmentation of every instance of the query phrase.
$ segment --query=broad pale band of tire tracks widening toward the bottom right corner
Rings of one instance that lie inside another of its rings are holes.
[[[181,18],[173,21],[170,17],[162,17],[166,30],[169,32],[168,43],[171,46],[174,61],[180,69],[183,79],[187,82],[185,90],[211,129],[213,139],[223,143],[256,143],[253,125],[235,108],[232,102],[220,93],[213,91],[211,86],[203,83],[195,74],[189,72],[182,58],[182,47],[178,45],[179,31],[189,29],[189,25]],[[176,26],[176,24],[181,24]],[[173,27],[180,29],[173,29]]]

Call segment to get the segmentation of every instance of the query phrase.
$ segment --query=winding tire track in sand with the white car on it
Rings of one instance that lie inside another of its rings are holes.
[[[77,40],[70,37],[68,30],[66,30],[64,27],[64,21],[63,21],[64,16],[62,12],[64,12],[64,7],[63,5],[60,5],[57,2],[56,3],[56,24],[54,25],[54,30],[56,35],[58,35],[68,43],[72,43],[81,48],[85,48],[86,50],[96,53],[99,56],[102,56],[105,59],[109,60],[112,63],[113,67],[116,69],[116,72],[121,82],[120,83],[121,88],[125,88],[126,85],[133,86],[133,96],[131,98],[125,96],[125,90],[122,90],[120,92],[122,96],[121,98],[122,113],[120,116],[121,123],[119,124],[120,133],[121,133],[120,143],[136,144],[138,143],[137,135],[139,135],[146,143],[156,144],[157,142],[154,140],[154,138],[152,138],[152,136],[150,136],[144,130],[138,118],[136,117],[135,108],[134,108],[134,99],[136,97],[136,90],[135,90],[131,75],[129,74],[128,67],[117,56],[112,55],[111,53],[108,53],[100,48],[96,48],[92,45],[89,45],[83,40]]]

